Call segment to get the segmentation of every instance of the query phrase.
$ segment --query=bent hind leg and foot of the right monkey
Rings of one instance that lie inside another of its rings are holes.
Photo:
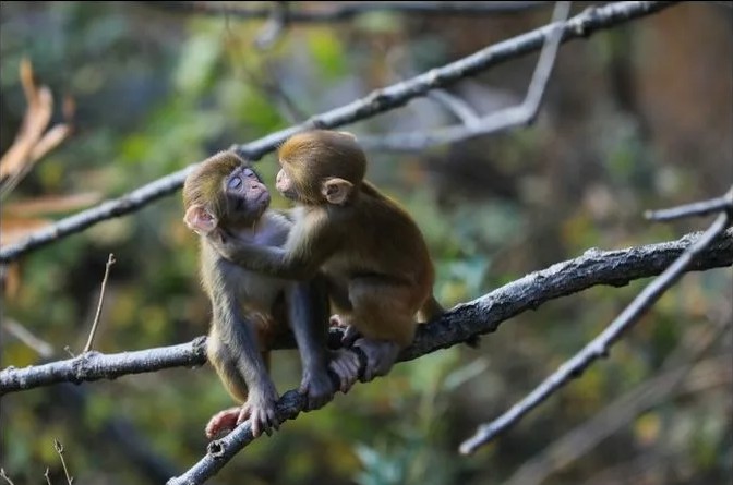
[[[399,351],[414,338],[413,315],[419,306],[416,291],[407,284],[381,278],[358,278],[349,284],[353,313],[345,318],[363,337],[353,342],[366,356],[363,380],[389,373]]]

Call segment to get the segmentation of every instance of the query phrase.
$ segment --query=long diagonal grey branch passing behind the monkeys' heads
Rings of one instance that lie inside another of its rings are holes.
[[[588,37],[596,32],[659,12],[675,3],[666,1],[629,1],[614,2],[604,7],[587,9],[564,23],[562,41]],[[546,25],[486,47],[458,61],[430,70],[426,73],[383,89],[377,89],[364,98],[312,117],[304,123],[272,133],[247,145],[236,145],[233,148],[244,158],[257,160],[263,155],[273,151],[285,140],[302,130],[309,128],[328,129],[341,126],[401,107],[410,99],[425,96],[432,89],[444,87],[494,65],[540,49],[544,44],[544,39],[555,27],[555,24]],[[81,232],[103,220],[133,213],[158,198],[172,194],[181,187],[185,177],[195,168],[195,165],[193,163],[182,170],[153,181],[119,198],[106,201],[97,207],[82,210],[73,216],[61,219],[48,228],[34,232],[16,244],[0,248],[0,263],[12,262],[32,250]]]

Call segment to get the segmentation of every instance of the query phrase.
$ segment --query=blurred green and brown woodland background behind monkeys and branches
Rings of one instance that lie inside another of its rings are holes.
[[[52,94],[49,128],[72,126],[2,194],[3,245],[235,143],[543,25],[553,7],[524,2],[538,5],[471,15],[374,9],[293,22],[268,38],[266,16],[177,3],[1,3],[0,153],[26,112],[22,65]],[[327,11],[351,2],[291,3]],[[440,301],[470,301],[590,247],[707,227],[708,219],[653,223],[644,211],[719,196],[733,182],[730,3],[681,4],[564,45],[531,128],[419,153],[369,150],[368,177],[408,208],[429,241]],[[588,5],[576,2],[573,13]],[[514,106],[536,62],[537,54],[522,57],[446,90],[480,113]],[[445,105],[422,98],[345,129],[378,137],[455,122]],[[276,166],[273,155],[257,165],[271,186]],[[81,352],[109,253],[117,264],[96,350],[206,332],[196,238],[177,192],[7,269],[3,368]],[[474,456],[457,453],[478,424],[577,352],[646,283],[563,298],[504,323],[479,349],[400,364],[256,440],[211,483],[730,483],[730,268],[685,276],[610,359]],[[38,341],[23,342],[23,330]],[[297,353],[276,352],[273,363],[278,389],[297,387]],[[672,374],[678,378],[669,385]],[[47,468],[53,484],[65,483],[53,439],[76,483],[159,484],[203,456],[205,423],[231,400],[206,365],[16,392],[0,405],[0,464],[16,485],[41,483]],[[567,441],[569,433],[581,439]]]

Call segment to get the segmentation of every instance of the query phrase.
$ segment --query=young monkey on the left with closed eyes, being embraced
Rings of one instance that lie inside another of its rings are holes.
[[[203,161],[183,186],[184,221],[200,234],[202,283],[212,302],[208,361],[229,393],[243,403],[211,419],[209,438],[247,419],[254,436],[278,427],[278,393],[268,375],[268,352],[288,325],[301,354],[300,391],[308,396],[308,409],[322,407],[333,396],[323,277],[312,274],[303,281],[288,281],[253,272],[223,258],[213,245],[225,241],[242,247],[283,245],[292,221],[269,209],[269,201],[259,175],[231,151]],[[346,389],[359,362],[341,351],[331,366]]]

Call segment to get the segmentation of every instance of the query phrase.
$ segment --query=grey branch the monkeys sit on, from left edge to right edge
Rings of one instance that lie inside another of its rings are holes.
[[[417,359],[437,349],[448,348],[470,337],[496,330],[498,325],[528,310],[561,296],[578,293],[599,284],[621,287],[640,278],[657,276],[699,237],[690,233],[677,241],[618,251],[589,250],[575,259],[557,263],[505,284],[472,302],[446,312],[440,319],[418,327],[412,345],[400,361]],[[721,234],[689,270],[707,270],[733,265],[733,229]],[[338,335],[332,336],[337,342]],[[205,337],[177,345],[104,355],[87,352],[74,359],[25,368],[0,371],[0,396],[51,384],[115,379],[128,374],[163,368],[203,365],[206,362]],[[335,343],[334,343],[335,347]],[[293,349],[292,339],[280,349]]]

